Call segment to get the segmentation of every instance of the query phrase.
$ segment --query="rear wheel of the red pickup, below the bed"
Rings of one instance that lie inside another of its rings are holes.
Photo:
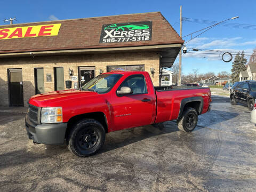
[[[189,120],[190,118],[190,120]],[[180,120],[177,120],[178,128],[181,131],[191,132],[195,129],[198,121],[198,115],[196,109],[187,107],[181,116]]]

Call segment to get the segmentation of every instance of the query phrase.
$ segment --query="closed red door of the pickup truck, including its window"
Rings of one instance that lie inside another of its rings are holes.
[[[118,95],[122,86],[132,89],[132,94]],[[154,123],[156,99],[154,90],[148,91],[145,77],[141,74],[127,77],[111,95],[111,121],[114,130],[122,130]]]

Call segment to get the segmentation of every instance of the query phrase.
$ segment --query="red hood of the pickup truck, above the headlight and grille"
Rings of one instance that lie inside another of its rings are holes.
[[[41,93],[32,96],[29,99],[29,104],[37,107],[61,107],[63,105],[72,105],[74,100],[89,98],[99,95],[92,91],[79,91],[79,90],[63,90]]]

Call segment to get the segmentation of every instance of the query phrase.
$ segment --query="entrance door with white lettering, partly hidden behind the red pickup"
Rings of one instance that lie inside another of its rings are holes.
[[[79,71],[79,87],[95,77],[95,67],[78,67]]]

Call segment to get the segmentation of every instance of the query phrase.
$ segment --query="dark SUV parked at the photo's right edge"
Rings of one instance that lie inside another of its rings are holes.
[[[254,100],[256,98],[256,81],[236,82],[230,89],[230,102],[236,105],[236,102],[244,103],[249,110],[253,110]]]

